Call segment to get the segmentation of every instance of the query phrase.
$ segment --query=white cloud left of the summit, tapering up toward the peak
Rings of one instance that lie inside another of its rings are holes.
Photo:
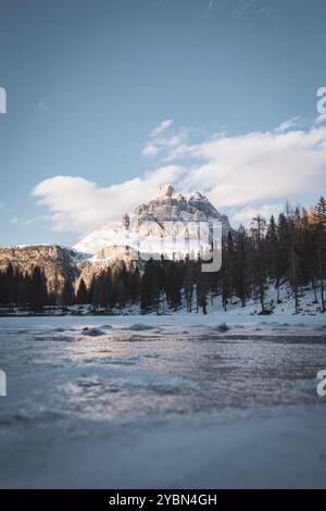
[[[122,213],[148,200],[160,185],[176,182],[183,172],[180,166],[166,165],[142,178],[108,187],[84,177],[55,176],[39,183],[33,195],[50,209],[54,230],[87,234],[120,220]]]

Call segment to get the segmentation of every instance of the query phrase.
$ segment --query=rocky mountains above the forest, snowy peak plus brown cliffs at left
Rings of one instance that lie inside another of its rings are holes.
[[[131,261],[148,259],[152,253],[159,259],[161,253],[171,257],[172,252],[181,258],[189,252],[189,240],[195,240],[197,251],[198,226],[211,220],[222,224],[223,235],[231,229],[227,216],[221,214],[205,196],[197,191],[187,199],[165,185],[131,215],[125,214],[122,222],[93,230],[74,248],[58,245],[0,248],[0,271],[11,263],[30,273],[38,265],[46,274],[49,291],[58,292],[66,277],[74,278],[76,285],[83,277],[88,285],[93,274],[116,260],[131,264]]]

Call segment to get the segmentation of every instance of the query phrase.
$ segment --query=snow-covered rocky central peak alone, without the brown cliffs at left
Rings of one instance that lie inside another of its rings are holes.
[[[90,254],[93,260],[116,259],[117,254],[124,258],[126,248],[140,254],[198,252],[200,245],[209,244],[208,223],[211,221],[221,223],[224,235],[230,229],[227,216],[221,214],[204,195],[196,191],[187,199],[171,185],[164,185],[133,214],[124,214],[122,222],[93,230],[74,249]]]

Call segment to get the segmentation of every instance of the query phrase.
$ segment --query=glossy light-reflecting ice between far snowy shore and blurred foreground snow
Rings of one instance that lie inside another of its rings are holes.
[[[12,413],[23,407],[34,417],[47,411],[68,421],[316,402],[315,375],[326,367],[323,332],[290,336],[286,324],[263,323],[5,329],[1,365],[10,399],[0,415],[7,403]]]

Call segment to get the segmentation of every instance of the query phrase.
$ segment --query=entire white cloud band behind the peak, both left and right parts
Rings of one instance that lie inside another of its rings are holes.
[[[163,183],[184,192],[205,192],[222,211],[233,208],[238,222],[251,217],[252,209],[268,217],[273,208],[277,214],[287,198],[297,201],[326,189],[323,125],[303,130],[292,120],[281,129],[239,136],[224,133],[201,144],[190,144],[186,137],[160,140],[162,148],[165,144],[164,161],[168,158],[170,164],[142,177],[100,187],[83,177],[55,176],[37,185],[34,195],[50,209],[54,229],[85,234],[118,220]],[[180,159],[183,165],[178,164]]]

